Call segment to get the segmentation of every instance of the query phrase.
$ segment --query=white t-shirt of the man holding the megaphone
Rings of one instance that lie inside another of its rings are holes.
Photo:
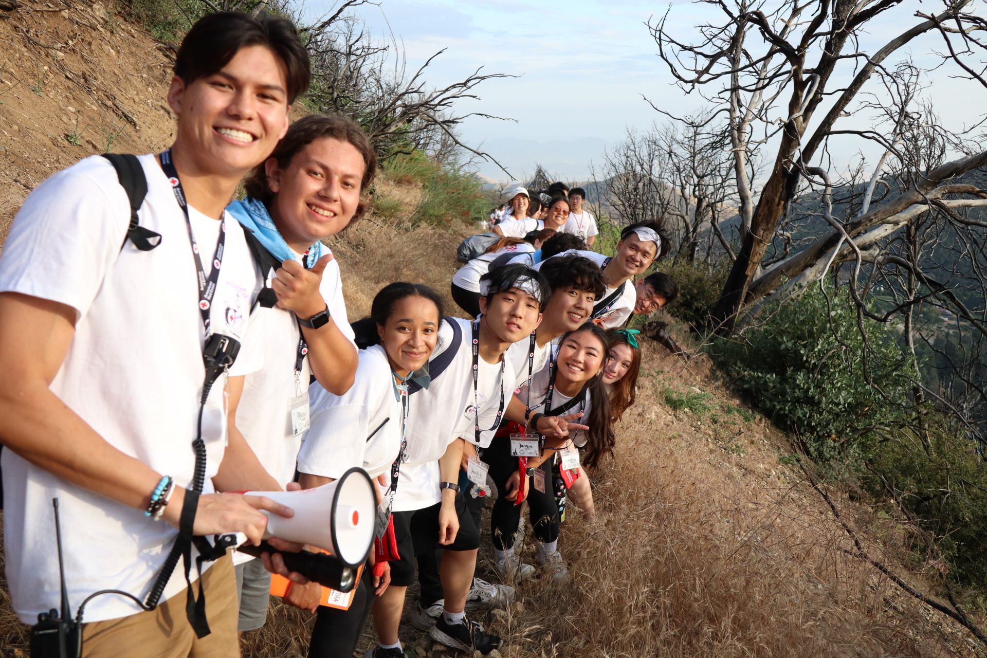
[[[114,168],[93,156],[47,179],[25,201],[0,256],[0,291],[75,309],[75,334],[51,391],[114,448],[172,475],[176,485],[188,486],[205,374],[197,277],[186,220],[172,187],[154,156],[141,156],[140,163],[148,183],[140,225],[161,234],[156,249],[140,252],[129,242],[120,249],[129,202]],[[192,208],[190,221],[203,267],[211,271],[220,223]],[[246,375],[263,363],[258,328],[249,321],[261,281],[240,224],[228,214],[223,221],[226,246],[211,327],[243,343],[230,374]],[[221,377],[202,420],[207,493],[226,445],[224,388]],[[103,589],[143,600],[178,535],[142,510],[70,484],[10,450],[3,451],[3,485],[7,580],[14,609],[25,623],[38,621],[38,613],[59,601],[52,498],[58,498],[73,611]],[[197,577],[194,568],[192,577]],[[180,564],[161,600],[185,587]],[[123,597],[101,596],[86,607],[85,621],[137,612]]]

